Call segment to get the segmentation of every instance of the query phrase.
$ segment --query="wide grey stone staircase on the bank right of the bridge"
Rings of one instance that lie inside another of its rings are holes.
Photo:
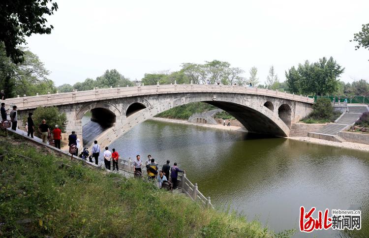
[[[365,112],[368,112],[367,106],[348,106],[348,112],[343,113],[335,123],[328,123],[316,132],[308,133],[308,136],[329,141],[344,142],[345,140],[338,136],[338,132],[353,125]]]

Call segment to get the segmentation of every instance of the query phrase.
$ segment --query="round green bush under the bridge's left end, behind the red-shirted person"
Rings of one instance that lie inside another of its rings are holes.
[[[33,112],[33,122],[35,133],[38,134],[38,126],[41,121],[45,119],[46,124],[49,125],[50,131],[55,128],[55,125],[59,125],[62,132],[65,132],[66,126],[66,115],[65,113],[60,113],[57,107],[37,107]],[[27,121],[23,120],[24,122]]]

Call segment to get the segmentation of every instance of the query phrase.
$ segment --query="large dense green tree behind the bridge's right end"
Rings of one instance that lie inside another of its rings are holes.
[[[305,61],[298,69],[292,67],[285,72],[290,92],[307,95],[329,95],[337,91],[342,68],[332,57],[323,57],[315,63]]]

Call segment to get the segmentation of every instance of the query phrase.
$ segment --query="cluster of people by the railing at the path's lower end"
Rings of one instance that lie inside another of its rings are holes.
[[[155,163],[155,159],[151,157],[151,155],[148,155],[148,159],[145,162],[146,165],[146,171],[149,179],[156,179],[158,183],[158,187],[161,188],[163,181],[169,181],[169,175],[172,181],[173,189],[177,188],[178,183],[178,172],[185,172],[184,170],[181,170],[177,167],[177,163],[174,163],[174,165],[171,167],[170,161],[167,160],[166,164],[164,164],[161,168],[161,170],[158,171],[157,164]],[[133,172],[140,172],[142,174],[142,161],[141,156],[138,154],[136,155],[136,160],[133,161]],[[169,171],[171,172],[169,174]]]

